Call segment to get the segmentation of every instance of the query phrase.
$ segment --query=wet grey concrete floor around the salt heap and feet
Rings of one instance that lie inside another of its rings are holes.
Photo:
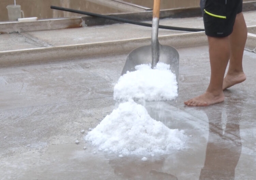
[[[208,46],[178,52],[179,97],[145,106],[189,138],[185,149],[147,161],[83,140],[116,107],[113,87],[127,54],[0,68],[0,179],[255,179],[256,54],[244,51],[247,79],[224,92],[225,102],[186,107],[208,86]]]

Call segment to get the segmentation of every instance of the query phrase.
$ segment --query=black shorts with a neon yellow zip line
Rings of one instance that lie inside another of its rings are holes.
[[[233,31],[243,0],[201,0],[205,34],[211,37],[227,37]]]

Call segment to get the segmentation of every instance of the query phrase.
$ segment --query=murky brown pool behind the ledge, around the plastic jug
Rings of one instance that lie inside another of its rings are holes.
[[[8,21],[7,5],[14,4],[14,1],[1,0],[0,2],[0,21]],[[86,0],[16,0],[16,4],[21,5],[25,17],[38,17],[38,19],[74,17],[80,14],[52,10],[51,5],[72,8],[75,10],[89,11],[99,14],[121,13],[122,11],[115,7],[108,7]]]

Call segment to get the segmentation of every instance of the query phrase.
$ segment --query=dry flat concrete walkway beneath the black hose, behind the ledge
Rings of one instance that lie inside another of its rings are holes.
[[[247,26],[256,25],[255,11],[244,12]],[[147,21],[150,22],[150,21]],[[167,18],[160,20],[161,25],[202,28],[202,17],[194,18]],[[172,31],[159,29],[159,36],[187,33],[184,31]],[[151,28],[133,24],[113,24],[103,26],[92,26],[75,29],[62,29],[51,31],[33,31],[23,33],[1,34],[0,53],[3,51],[22,50],[30,48],[44,48],[53,46],[64,46],[82,43],[98,43],[114,40],[135,39],[151,37]],[[15,41],[20,46],[9,46],[8,41]]]

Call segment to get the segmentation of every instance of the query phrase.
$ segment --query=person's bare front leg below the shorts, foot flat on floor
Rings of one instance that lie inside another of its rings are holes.
[[[206,92],[186,102],[188,106],[208,106],[224,101],[223,79],[230,56],[229,36],[224,38],[209,37],[211,80]]]

